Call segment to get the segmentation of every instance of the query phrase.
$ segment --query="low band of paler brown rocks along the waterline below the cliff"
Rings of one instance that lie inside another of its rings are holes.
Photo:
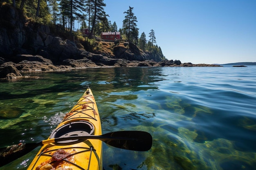
[[[91,56],[92,55],[92,56]],[[95,54],[88,56],[92,57]],[[101,55],[99,55],[101,56]],[[180,60],[162,60],[161,62],[155,62],[154,60],[145,61],[129,61],[125,59],[110,59],[105,62],[94,62],[84,57],[79,60],[66,59],[63,60],[63,65],[54,65],[51,60],[45,59],[40,55],[17,55],[17,60],[20,62],[4,61],[0,58],[0,79],[18,79],[24,78],[22,73],[24,72],[64,72],[72,71],[74,69],[84,68],[101,68],[101,67],[202,67],[211,66],[218,67],[219,65],[213,64],[192,64],[192,63],[181,63]],[[95,56],[94,56],[95,57]],[[102,57],[102,56],[101,56]],[[106,64],[108,63],[108,64]]]

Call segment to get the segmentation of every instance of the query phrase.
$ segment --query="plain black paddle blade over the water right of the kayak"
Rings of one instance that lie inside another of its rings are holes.
[[[101,136],[113,137],[113,139],[106,139],[104,142],[121,149],[148,151],[152,146],[152,136],[148,132],[143,131],[117,131]]]

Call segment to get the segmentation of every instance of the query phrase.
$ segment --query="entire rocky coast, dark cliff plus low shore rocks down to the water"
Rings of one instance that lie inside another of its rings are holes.
[[[95,40],[103,50],[86,50],[88,42],[62,38],[56,26],[29,21],[16,8],[8,5],[0,10],[0,79],[22,78],[24,72],[70,71],[79,68],[137,66],[219,66],[162,60],[159,55],[142,51],[135,44]]]

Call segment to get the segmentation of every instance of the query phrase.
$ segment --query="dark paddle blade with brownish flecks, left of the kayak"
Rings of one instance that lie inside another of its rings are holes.
[[[37,146],[40,146],[40,143],[20,143],[18,145],[11,145],[5,148],[0,148],[0,167],[22,157],[23,155],[26,155],[31,150],[34,150],[34,148]]]

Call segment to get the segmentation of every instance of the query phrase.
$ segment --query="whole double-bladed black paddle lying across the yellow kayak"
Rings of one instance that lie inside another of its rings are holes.
[[[13,148],[0,148],[0,167],[5,164],[26,155],[31,150],[35,149],[38,146],[43,146],[45,144],[56,144],[61,141],[67,141],[67,143],[61,143],[60,145],[69,145],[70,142],[68,140],[87,140],[87,139],[99,139],[110,146],[114,146],[116,148],[127,149],[127,150],[135,150],[135,151],[147,151],[150,150],[152,146],[152,136],[148,132],[143,131],[117,131],[117,132],[109,132],[103,135],[88,135],[88,136],[70,136],[70,137],[59,137],[53,139],[46,139],[40,141],[38,143],[28,143],[22,145],[13,145],[15,151],[10,152]],[[75,141],[76,142],[76,141]],[[75,143],[71,141],[72,144]]]

